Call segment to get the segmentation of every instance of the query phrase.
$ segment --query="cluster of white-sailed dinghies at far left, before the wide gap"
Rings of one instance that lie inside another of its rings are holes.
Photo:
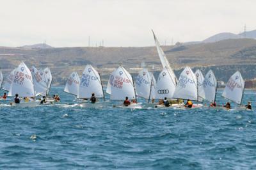
[[[49,78],[52,79],[51,72],[47,68],[47,73]],[[3,82],[2,89],[8,91],[8,97],[15,97],[16,94],[19,95],[19,98],[28,98],[29,101],[21,100],[19,104],[11,102],[12,106],[20,107],[35,107],[40,104],[40,100],[36,100],[37,96],[47,95],[49,91],[48,86],[51,86],[50,80],[45,76],[44,71],[38,71],[35,66],[32,66],[29,70],[28,66],[24,62],[21,62],[20,65],[12,70],[10,75],[3,80],[3,75],[0,73],[1,84]]]

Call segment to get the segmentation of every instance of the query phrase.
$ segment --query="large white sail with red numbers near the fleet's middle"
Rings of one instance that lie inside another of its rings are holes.
[[[109,77],[111,100],[124,100],[125,97],[135,99],[132,76],[124,67],[119,66]]]

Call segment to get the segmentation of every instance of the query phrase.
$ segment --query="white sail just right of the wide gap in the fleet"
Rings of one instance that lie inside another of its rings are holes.
[[[72,95],[78,95],[80,79],[77,72],[72,72],[68,79],[64,91]]]

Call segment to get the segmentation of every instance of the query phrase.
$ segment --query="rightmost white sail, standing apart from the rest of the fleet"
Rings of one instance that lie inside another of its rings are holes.
[[[243,91],[244,80],[241,73],[237,71],[228,80],[222,96],[227,98],[228,100],[236,102],[237,104],[241,104],[243,98]]]

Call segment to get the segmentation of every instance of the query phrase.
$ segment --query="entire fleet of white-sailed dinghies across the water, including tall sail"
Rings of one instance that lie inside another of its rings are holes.
[[[110,100],[124,101],[128,97],[132,102],[127,108],[134,109],[141,108],[141,103],[137,102],[137,96],[145,98],[148,103],[150,100],[154,103],[154,100],[164,100],[164,98],[177,101],[171,104],[171,107],[184,107],[184,103],[179,102],[179,100],[198,102],[198,104],[193,104],[193,108],[202,107],[203,104],[200,103],[204,101],[215,104],[218,84],[212,70],[209,70],[204,77],[200,70],[196,70],[194,73],[189,66],[186,66],[180,73],[178,80],[161,49],[154,31],[152,33],[163,65],[163,70],[159,73],[157,81],[153,73],[149,72],[147,68],[143,68],[133,79],[132,75],[120,65],[109,76],[106,93],[110,95]],[[12,103],[12,105],[25,107],[38,105],[40,100],[36,100],[36,96],[46,97],[49,95],[51,82],[52,75],[49,68],[38,70],[35,66],[32,66],[29,70],[25,63],[21,62],[4,80],[0,70],[0,87],[8,91],[8,97],[15,97],[16,94],[19,94],[19,97],[31,98],[29,102]],[[92,105],[91,102],[88,102],[92,93],[97,99],[103,99],[96,102],[97,104],[102,105],[108,102],[105,100],[100,74],[92,65],[85,66],[81,77],[77,72],[72,72],[67,79],[64,91],[75,95],[80,102],[79,104],[84,107]],[[241,105],[243,92],[244,80],[241,73],[237,71],[228,80],[222,97]],[[115,106],[124,107],[123,104]],[[158,104],[158,106],[160,105]]]

